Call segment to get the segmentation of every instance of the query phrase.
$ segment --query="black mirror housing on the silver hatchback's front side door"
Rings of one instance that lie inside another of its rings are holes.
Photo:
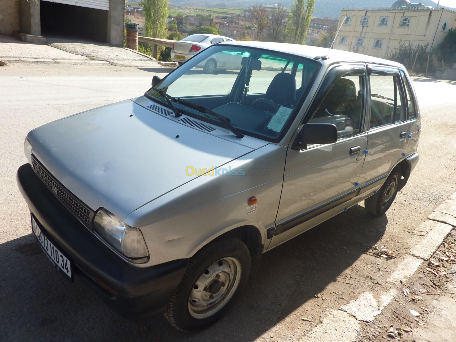
[[[293,144],[293,149],[305,149],[308,144],[332,144],[337,141],[337,127],[335,124],[310,123],[302,127]]]

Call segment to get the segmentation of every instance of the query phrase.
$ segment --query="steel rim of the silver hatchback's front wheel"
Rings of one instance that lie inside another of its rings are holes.
[[[218,259],[207,266],[190,291],[190,315],[202,319],[220,311],[238,288],[241,273],[241,264],[233,257]]]

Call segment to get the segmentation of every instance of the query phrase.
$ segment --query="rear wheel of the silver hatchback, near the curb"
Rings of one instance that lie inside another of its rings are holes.
[[[391,172],[375,195],[364,200],[366,210],[376,216],[381,216],[387,212],[391,204],[393,204],[394,198],[396,198],[401,178],[402,172],[398,167]]]

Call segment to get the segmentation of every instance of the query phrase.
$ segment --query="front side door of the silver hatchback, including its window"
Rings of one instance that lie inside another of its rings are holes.
[[[335,124],[338,140],[289,148],[274,237],[269,249],[335,215],[356,192],[368,137],[363,131],[364,65],[330,71],[304,123]],[[309,115],[310,114],[310,115]],[[309,119],[310,118],[310,119]]]

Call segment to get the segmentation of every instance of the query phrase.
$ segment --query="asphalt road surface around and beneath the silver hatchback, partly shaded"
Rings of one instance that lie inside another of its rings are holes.
[[[409,232],[456,190],[456,82],[415,79],[420,163],[387,215],[373,218],[357,205],[264,254],[258,279],[203,332],[178,332],[163,316],[128,321],[82,280],[70,284],[57,274],[31,235],[16,170],[26,162],[29,130],[141,95],[163,71],[36,64],[0,70],[0,341],[299,341],[326,309],[365,290],[386,290],[383,278],[395,261],[370,249],[406,253],[417,239]],[[325,300],[314,297],[321,292]]]

